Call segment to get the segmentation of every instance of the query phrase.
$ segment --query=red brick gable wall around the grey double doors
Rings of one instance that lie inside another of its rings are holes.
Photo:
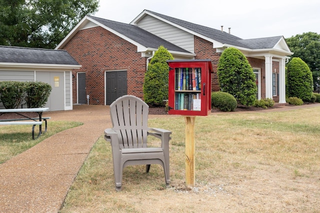
[[[127,94],[143,98],[146,58],[135,45],[98,26],[79,30],[63,49],[82,65],[72,71],[73,103],[77,100],[76,72],[86,73],[89,104],[104,105],[104,72],[110,70],[126,70]]]

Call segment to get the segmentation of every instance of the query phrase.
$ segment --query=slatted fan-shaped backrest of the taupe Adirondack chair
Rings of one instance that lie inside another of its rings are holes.
[[[120,148],[146,147],[148,108],[132,95],[124,95],[110,105],[113,129],[120,133]]]

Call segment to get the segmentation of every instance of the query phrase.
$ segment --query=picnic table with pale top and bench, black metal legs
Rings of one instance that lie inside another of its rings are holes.
[[[32,125],[32,139],[34,138],[34,127],[39,125],[39,134],[36,138],[38,138],[42,134],[42,120],[45,122],[45,131],[47,129],[47,119],[50,117],[42,117],[42,113],[49,110],[49,108],[21,108],[21,109],[0,109],[0,115],[4,113],[15,113],[21,116],[21,118],[13,118],[13,119],[0,119],[0,125]],[[25,114],[27,112],[35,112],[38,117],[28,117]]]

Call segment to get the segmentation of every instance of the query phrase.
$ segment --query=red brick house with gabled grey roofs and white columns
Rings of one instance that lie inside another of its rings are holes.
[[[212,90],[216,68],[227,47],[239,49],[256,76],[257,98],[285,103],[284,65],[290,52],[283,36],[241,39],[230,32],[201,26],[149,10],[129,24],[85,16],[58,44],[82,68],[73,70],[73,103],[109,105],[131,94],[143,98],[147,64],[159,45],[174,59],[211,59]]]

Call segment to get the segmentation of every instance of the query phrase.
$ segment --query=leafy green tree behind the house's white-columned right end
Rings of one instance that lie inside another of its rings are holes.
[[[320,76],[320,34],[305,32],[285,39],[292,57],[301,58],[310,68],[313,82]]]

